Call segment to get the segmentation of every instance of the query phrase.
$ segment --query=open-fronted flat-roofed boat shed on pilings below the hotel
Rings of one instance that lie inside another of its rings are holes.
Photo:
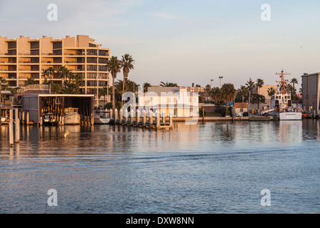
[[[22,112],[29,113],[28,120],[40,123],[41,115],[53,113],[62,123],[65,108],[78,108],[80,121],[94,123],[94,95],[84,94],[24,94],[21,97]]]

